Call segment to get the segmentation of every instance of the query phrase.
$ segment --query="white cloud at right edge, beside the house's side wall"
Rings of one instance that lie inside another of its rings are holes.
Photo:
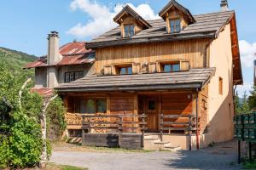
[[[247,68],[253,67],[253,60],[256,59],[256,42],[249,43],[245,40],[239,41],[241,54],[241,65]]]

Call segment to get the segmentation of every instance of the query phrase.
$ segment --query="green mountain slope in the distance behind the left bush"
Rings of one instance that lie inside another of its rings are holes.
[[[37,57],[34,55],[0,47],[0,62],[5,62],[9,69],[13,71],[21,71],[26,63],[32,62],[36,59]]]

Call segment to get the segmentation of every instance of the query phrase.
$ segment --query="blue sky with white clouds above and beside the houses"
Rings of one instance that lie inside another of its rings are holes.
[[[90,41],[113,28],[113,16],[130,4],[144,19],[158,18],[169,0],[1,0],[0,47],[42,56],[47,52],[47,34],[58,31],[61,44]],[[177,0],[192,14],[220,10],[220,0]],[[239,95],[249,93],[253,85],[253,59],[256,59],[256,1],[229,0],[236,10],[244,85]]]

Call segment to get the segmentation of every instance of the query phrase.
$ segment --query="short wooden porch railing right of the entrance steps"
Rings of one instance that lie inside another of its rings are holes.
[[[177,122],[173,121],[173,119],[178,118],[187,118],[186,121]],[[167,127],[168,126],[168,127]],[[160,140],[163,141],[163,133],[165,131],[179,131],[183,130],[184,132],[189,133],[189,150],[192,148],[192,133],[197,133],[199,130],[199,118],[196,119],[196,116],[192,115],[160,115]]]

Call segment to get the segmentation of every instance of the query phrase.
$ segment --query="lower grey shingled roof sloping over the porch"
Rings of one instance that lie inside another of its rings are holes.
[[[215,68],[137,75],[90,76],[61,84],[58,92],[99,92],[122,90],[200,89],[210,81]]]

